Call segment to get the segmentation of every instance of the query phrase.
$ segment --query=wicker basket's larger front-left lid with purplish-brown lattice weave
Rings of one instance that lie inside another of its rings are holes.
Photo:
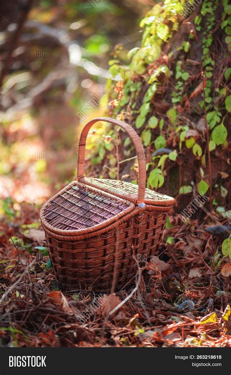
[[[60,235],[100,230],[134,210],[130,201],[74,181],[41,208],[43,226]]]

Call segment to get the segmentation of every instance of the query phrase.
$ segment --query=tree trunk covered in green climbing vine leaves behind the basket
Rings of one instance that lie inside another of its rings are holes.
[[[173,195],[193,194],[193,189],[206,194],[210,153],[212,203],[219,212],[228,194],[230,169],[231,6],[227,0],[204,0],[183,19],[187,4],[166,0],[154,5],[140,22],[141,45],[128,52],[129,64],[123,46],[115,47],[109,70],[120,77],[120,86],[112,79],[107,82],[108,114],[128,121],[141,136],[147,150],[149,188]],[[113,130],[110,136],[116,138]],[[113,153],[115,142],[109,143]],[[119,143],[123,157],[134,155],[124,134]],[[107,151],[102,149],[107,148],[107,142],[100,144],[98,163],[104,163]],[[110,165],[109,175],[116,178],[115,157]],[[230,215],[225,209],[220,214]]]

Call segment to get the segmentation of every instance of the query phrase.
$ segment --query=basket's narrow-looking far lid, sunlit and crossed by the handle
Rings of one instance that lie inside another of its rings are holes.
[[[122,199],[128,199],[129,201],[136,203],[138,185],[130,182],[112,180],[112,179],[100,179],[81,177],[79,181],[84,182],[87,185],[94,186],[110,194],[116,195]],[[172,206],[175,199],[164,194],[156,193],[154,190],[145,189],[144,203],[151,204],[161,207]]]

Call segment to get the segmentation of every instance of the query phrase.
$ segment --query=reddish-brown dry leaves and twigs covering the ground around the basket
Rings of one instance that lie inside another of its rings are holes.
[[[170,222],[139,283],[96,295],[58,290],[36,208],[2,218],[0,346],[231,346],[230,262],[216,255],[223,239],[197,221]]]

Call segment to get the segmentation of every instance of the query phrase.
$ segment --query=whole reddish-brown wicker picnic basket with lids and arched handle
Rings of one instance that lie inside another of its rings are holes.
[[[139,136],[125,122],[102,117],[83,128],[77,181],[49,199],[40,211],[56,279],[64,289],[114,291],[132,282],[137,260],[148,260],[158,251],[174,203],[173,198],[145,188],[144,157],[138,157],[138,186],[83,176],[86,138],[97,121],[124,129],[136,154],[145,154]]]

